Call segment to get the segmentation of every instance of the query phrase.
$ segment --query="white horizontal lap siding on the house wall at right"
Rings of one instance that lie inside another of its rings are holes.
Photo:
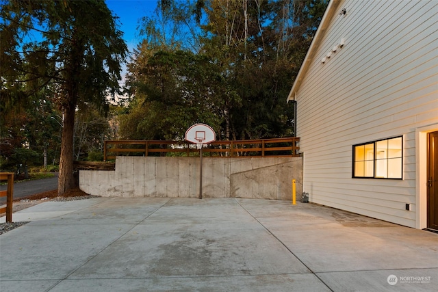
[[[438,129],[438,1],[337,10],[296,92],[303,189],[312,202],[415,227],[415,129]],[[352,178],[352,145],[399,135],[402,180]]]

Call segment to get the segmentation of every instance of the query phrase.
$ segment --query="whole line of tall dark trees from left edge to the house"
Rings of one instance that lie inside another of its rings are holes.
[[[159,1],[116,107],[128,51],[105,1],[0,0],[0,163],[56,161],[63,194],[108,138],[181,140],[196,122],[218,140],[293,136],[285,98],[327,3]]]

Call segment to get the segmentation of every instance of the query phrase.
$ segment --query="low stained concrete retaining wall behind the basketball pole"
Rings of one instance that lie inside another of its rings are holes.
[[[302,193],[302,157],[203,157],[203,197],[291,200]],[[110,197],[199,195],[198,157],[117,157],[116,170],[80,170],[79,187]]]

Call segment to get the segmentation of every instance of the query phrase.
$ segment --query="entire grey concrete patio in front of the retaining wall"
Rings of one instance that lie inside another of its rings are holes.
[[[2,292],[438,287],[438,234],[315,204],[93,198],[12,219],[31,222],[0,235]]]

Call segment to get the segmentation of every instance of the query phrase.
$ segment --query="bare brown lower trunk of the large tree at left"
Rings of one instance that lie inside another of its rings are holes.
[[[60,175],[57,181],[57,195],[61,196],[68,189],[75,187],[73,178],[73,129],[75,127],[75,105],[64,107],[64,122],[62,127]]]

